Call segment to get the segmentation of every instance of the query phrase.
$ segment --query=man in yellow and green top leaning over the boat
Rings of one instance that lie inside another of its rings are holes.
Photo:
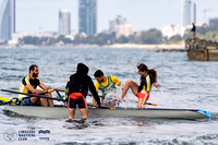
[[[106,97],[106,95],[110,92],[116,92],[117,86],[121,86],[121,82],[113,75],[104,75],[104,72],[101,70],[97,70],[94,74],[95,78],[96,78],[96,83],[95,83],[95,87],[96,90],[101,90],[102,96],[100,96],[101,98],[101,102],[104,102],[104,99]],[[94,105],[96,104],[95,100],[93,100]]]

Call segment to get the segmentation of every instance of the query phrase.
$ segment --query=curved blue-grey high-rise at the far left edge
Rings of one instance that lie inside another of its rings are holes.
[[[9,40],[15,33],[15,0],[0,1],[0,40]]]

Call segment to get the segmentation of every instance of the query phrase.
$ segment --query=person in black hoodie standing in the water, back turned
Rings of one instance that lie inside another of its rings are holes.
[[[83,63],[77,64],[76,73],[72,74],[65,86],[65,98],[68,98],[69,119],[74,118],[76,106],[78,106],[83,119],[88,117],[88,107],[85,100],[88,89],[94,96],[97,105],[100,106],[100,99],[94,86],[94,83],[88,76],[88,67]]]

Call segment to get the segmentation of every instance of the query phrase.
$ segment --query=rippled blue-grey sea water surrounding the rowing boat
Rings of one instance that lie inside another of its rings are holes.
[[[39,77],[50,87],[64,88],[76,64],[89,67],[89,75],[100,69],[125,82],[140,83],[137,62],[156,68],[161,92],[153,88],[150,102],[159,108],[203,109],[210,120],[167,120],[143,118],[95,118],[85,124],[64,119],[40,119],[8,114],[0,107],[0,144],[218,144],[218,62],[187,61],[185,52],[146,52],[145,49],[0,49],[0,88],[17,90],[28,67],[39,67]],[[95,80],[94,80],[95,81]],[[120,93],[118,93],[118,96]],[[16,97],[0,92],[2,97]],[[56,94],[53,94],[56,96]],[[129,92],[129,98],[136,98]],[[87,98],[90,101],[90,98]],[[121,104],[135,107],[135,102]],[[147,106],[152,107],[152,106]],[[27,141],[5,140],[5,131],[35,131]],[[40,134],[38,131],[50,131]]]

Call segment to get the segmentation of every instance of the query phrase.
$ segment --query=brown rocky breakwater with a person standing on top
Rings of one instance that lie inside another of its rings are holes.
[[[189,60],[218,61],[218,41],[187,38],[185,51]]]

